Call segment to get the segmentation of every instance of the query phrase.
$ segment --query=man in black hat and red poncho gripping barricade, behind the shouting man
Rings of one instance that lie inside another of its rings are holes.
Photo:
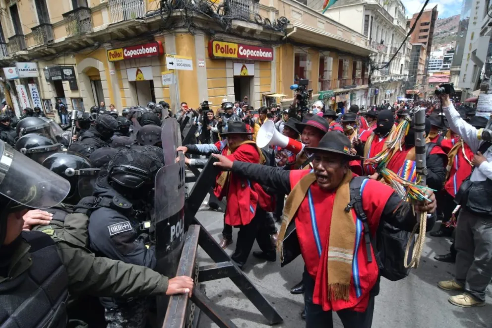
[[[265,157],[254,141],[249,140],[251,132],[241,121],[228,123],[227,130],[221,133],[224,140],[215,144],[189,144],[178,147],[178,151],[190,154],[222,154],[231,161],[264,164]],[[191,159],[190,165],[198,160]],[[231,256],[238,266],[243,267],[253,246],[254,239],[258,242],[264,259],[276,261],[276,253],[270,240],[268,229],[264,229],[266,212],[274,210],[274,199],[265,193],[261,186],[253,181],[245,181],[237,174],[222,172],[216,178],[214,194],[219,199],[227,197],[224,214],[222,248],[232,243],[232,226],[239,227],[236,250]]]

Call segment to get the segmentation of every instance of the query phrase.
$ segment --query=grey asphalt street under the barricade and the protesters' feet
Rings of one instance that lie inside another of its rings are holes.
[[[197,218],[216,240],[219,240],[223,213],[209,211],[208,206],[202,208]],[[236,236],[237,229],[235,229],[234,241]],[[488,304],[485,307],[462,309],[447,301],[451,293],[437,288],[438,280],[451,277],[454,265],[435,261],[433,257],[435,254],[447,252],[449,245],[446,239],[428,238],[418,270],[413,271],[402,281],[391,282],[383,279],[381,293],[376,297],[373,328],[492,327],[492,293],[489,293]],[[231,254],[234,247],[235,244],[231,245],[227,252]],[[258,249],[255,243],[253,250]],[[200,254],[201,265],[211,263],[204,252]],[[284,318],[284,323],[277,327],[304,327],[304,321],[299,316],[303,307],[302,296],[291,295],[288,291],[288,288],[300,281],[303,265],[301,257],[282,269],[279,262],[260,262],[252,256],[246,263],[244,271],[248,278]],[[261,314],[229,279],[207,282],[206,293],[238,327],[269,327]],[[338,317],[334,317],[334,327],[341,328]],[[202,315],[200,328],[212,327],[217,326]]]

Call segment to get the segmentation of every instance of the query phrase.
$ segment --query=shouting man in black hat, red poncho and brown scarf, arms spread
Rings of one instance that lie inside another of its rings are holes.
[[[351,202],[354,178],[349,161],[360,157],[350,155],[350,146],[345,135],[327,132],[316,147],[306,148],[314,156],[313,172],[287,172],[216,156],[216,166],[289,194],[278,245],[282,265],[299,253],[306,264],[303,280],[307,328],[331,327],[333,311],[345,328],[371,327],[375,296],[371,291],[378,287],[378,268],[376,261],[367,256],[367,248],[372,254],[370,243],[356,241],[364,241],[365,234],[375,234],[381,220],[406,231],[416,224],[412,211],[402,214],[401,199],[391,187],[366,179],[359,194],[369,227],[356,229],[362,224],[354,209],[346,208]],[[419,211],[435,211],[435,197],[432,193],[429,197],[431,202],[420,205]],[[354,276],[360,279],[352,279]]]

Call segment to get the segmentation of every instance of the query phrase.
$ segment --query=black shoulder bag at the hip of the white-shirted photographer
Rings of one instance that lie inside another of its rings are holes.
[[[490,146],[490,142],[484,142],[479,151],[484,154]],[[487,178],[485,181],[470,181],[470,177],[471,174],[463,181],[454,201],[476,215],[491,217],[492,180]]]

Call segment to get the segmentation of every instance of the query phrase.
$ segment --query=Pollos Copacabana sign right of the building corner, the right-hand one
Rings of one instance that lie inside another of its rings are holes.
[[[208,44],[210,58],[248,59],[252,61],[273,61],[273,49],[240,43],[211,40]]]

